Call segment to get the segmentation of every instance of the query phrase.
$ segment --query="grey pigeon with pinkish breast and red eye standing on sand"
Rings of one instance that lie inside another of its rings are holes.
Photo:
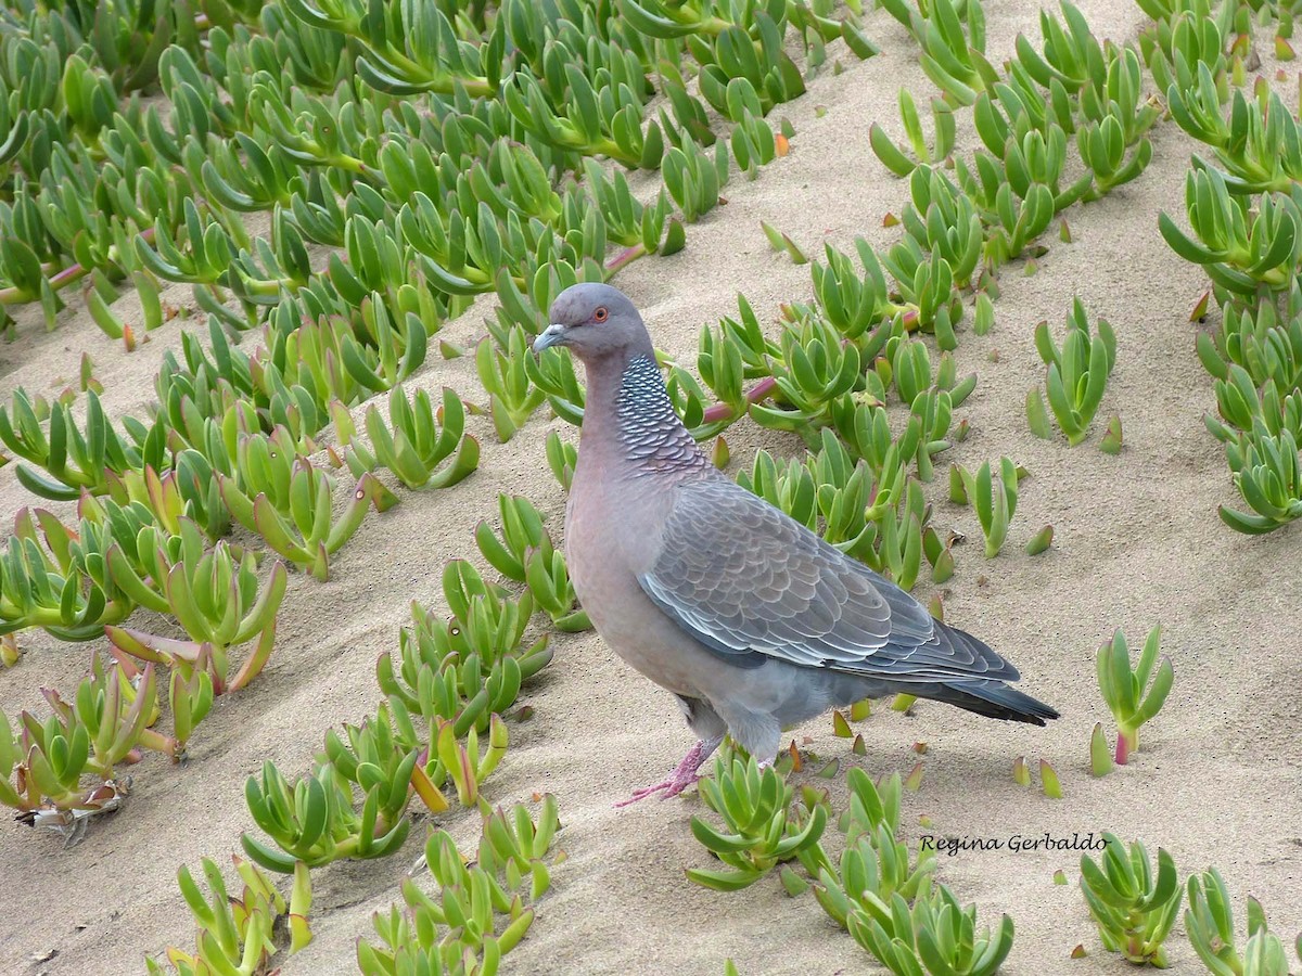
[[[725,734],[771,764],[783,731],[905,692],[1016,722],[1059,713],[1009,687],[978,638],[719,471],[674,413],[642,316],[573,285],[534,341],[583,363],[587,397],[565,510],[574,591],[600,638],[671,691],[699,740],[617,806],[674,796]]]

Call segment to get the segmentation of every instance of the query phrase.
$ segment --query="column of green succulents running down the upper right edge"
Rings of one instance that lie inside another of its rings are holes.
[[[1230,91],[1225,59],[1208,56],[1219,42],[1216,23],[1195,26],[1195,16],[1170,22],[1167,98],[1177,125],[1211,159],[1195,154],[1186,176],[1191,234],[1167,213],[1159,229],[1211,278],[1195,308],[1200,318],[1215,301],[1221,314],[1219,329],[1197,342],[1215,380],[1217,411],[1206,422],[1247,506],[1221,505],[1220,517],[1256,535],[1302,517],[1302,130],[1264,78],[1251,91]]]

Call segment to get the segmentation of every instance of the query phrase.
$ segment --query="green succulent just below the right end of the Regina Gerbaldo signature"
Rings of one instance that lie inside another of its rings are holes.
[[[1104,832],[1099,863],[1081,855],[1081,891],[1104,949],[1137,964],[1167,967],[1163,942],[1180,912],[1182,891],[1170,855],[1157,850],[1157,873],[1139,841],[1129,850]]]

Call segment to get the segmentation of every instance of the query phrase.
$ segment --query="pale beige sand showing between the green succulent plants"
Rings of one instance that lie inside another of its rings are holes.
[[[1141,23],[1128,0],[1081,4],[1100,36],[1133,38]],[[1008,52],[1018,31],[1038,35],[1029,4],[986,4],[991,52]],[[702,324],[734,312],[745,293],[769,328],[779,302],[810,297],[809,269],[773,254],[760,232],[767,220],[810,255],[824,241],[848,249],[862,234],[888,245],[881,226],[898,212],[904,182],[891,177],[868,148],[868,125],[898,133],[900,85],[915,95],[931,85],[913,43],[884,14],[870,22],[883,53],[858,62],[840,51],[845,72],[828,70],[798,102],[781,107],[796,126],[786,159],[756,182],[730,183],[728,206],[689,229],[689,246],[668,259],[641,260],[617,284],[644,312],[656,342],[694,363]],[[1268,68],[1273,65],[1268,64]],[[919,98],[919,103],[922,99]],[[825,113],[822,108],[825,107]],[[775,116],[776,117],[776,116]],[[960,115],[960,150],[970,151],[970,116]],[[971,435],[939,466],[928,487],[939,527],[979,539],[970,509],[949,504],[948,461],[976,466],[1010,455],[1030,471],[1022,485],[1009,544],[995,561],[976,545],[958,550],[958,569],[944,587],[947,619],[986,638],[1021,668],[1023,687],[1057,705],[1048,729],[1006,726],[943,705],[921,703],[911,716],[875,709],[862,725],[868,755],[855,757],[832,735],[827,718],[797,730],[810,748],[871,774],[907,772],[911,744],[930,743],[919,793],[905,799],[906,833],[919,815],[934,830],[971,838],[1053,837],[1111,829],[1167,847],[1182,876],[1215,864],[1234,895],[1258,897],[1272,928],[1292,942],[1302,928],[1302,705],[1297,688],[1297,531],[1249,539],[1225,528],[1216,505],[1232,501],[1228,470],[1202,414],[1215,409],[1211,380],[1194,355],[1189,310],[1203,289],[1156,230],[1159,210],[1182,220],[1184,173],[1191,143],[1173,124],[1154,134],[1154,163],[1141,180],[1100,203],[1069,213],[1074,242],[1047,236],[1039,273],[1004,271],[993,331],[976,338],[963,327],[961,372],[975,370],[975,393],[960,411]],[[1035,323],[1059,325],[1073,294],[1091,316],[1116,328],[1118,355],[1104,414],[1125,426],[1124,453],[1096,448],[1099,432],[1069,450],[1042,441],[1026,427],[1023,398],[1043,379],[1032,344]],[[172,301],[186,299],[177,289]],[[130,302],[132,299],[124,299]],[[125,305],[130,310],[130,305]],[[469,344],[483,334],[480,305],[445,334]],[[35,318],[0,347],[0,396],[22,384],[56,394],[74,381],[83,349],[91,351],[105,403],[139,411],[167,347],[178,347],[173,321],[134,354],[99,333],[79,307],[47,334]],[[246,342],[253,342],[253,337]],[[482,390],[469,358],[431,358],[413,385],[452,385],[469,400]],[[452,491],[402,492],[402,504],[370,515],[335,561],[329,583],[292,578],[280,617],[276,652],[249,690],[219,700],[194,737],[185,768],[150,757],[133,769],[129,807],[96,824],[83,843],[62,850],[53,835],[17,825],[0,829],[0,971],[7,973],[139,972],[146,953],[189,946],[189,915],[174,882],[182,863],[203,855],[225,859],[251,826],[242,798],[246,776],[271,759],[288,774],[305,769],[328,725],[358,721],[374,708],[376,655],[396,645],[413,600],[440,605],[445,560],[475,557],[471,537],[492,518],[499,492],[530,497],[562,531],[564,500],[547,471],[548,429],[577,432],[540,411],[508,445],[499,445],[483,418],[473,418],[484,444],[479,472]],[[798,445],[742,423],[728,433],[733,465],[749,465],[766,446]],[[0,510],[40,504],[0,471]],[[60,506],[53,506],[59,509]],[[1025,541],[1044,523],[1053,549],[1030,558]],[[926,600],[932,588],[919,583]],[[1094,679],[1094,649],[1117,626],[1138,642],[1156,622],[1176,666],[1176,687],[1163,713],[1146,727],[1138,761],[1105,779],[1087,768],[1090,729],[1108,721]],[[42,705],[40,686],[70,690],[85,673],[91,645],[68,645],[40,634],[21,636],[26,656],[0,674],[0,708],[14,716]],[[560,798],[560,846],[569,860],[538,904],[529,938],[513,953],[513,973],[723,972],[733,958],[746,976],[872,971],[871,956],[838,930],[806,894],[794,902],[776,877],[737,894],[719,894],[684,878],[685,867],[708,864],[687,830],[702,809],[695,795],[616,811],[612,802],[659,779],[691,742],[672,699],[613,658],[592,635],[559,638],[556,660],[525,700],[535,717],[512,729],[510,751],[490,781],[495,802],[535,791]],[[1065,799],[1018,787],[1010,765],[1025,755],[1032,766],[1049,760]],[[797,778],[798,779],[798,778]],[[822,781],[820,781],[822,782]],[[840,785],[833,795],[840,795]],[[440,822],[469,842],[477,817]],[[342,863],[312,873],[316,941],[288,960],[286,973],[353,971],[353,945],[370,930],[370,915],[398,897],[398,882],[418,856],[423,825],[406,848],[381,863]],[[1069,852],[962,852],[943,856],[940,878],[980,919],[1010,914],[1017,925],[1004,968],[1030,973],[1122,972],[1100,950],[1074,886]],[[1072,886],[1055,886],[1064,868]],[[1199,972],[1182,925],[1170,938],[1174,972]],[[1069,962],[1083,942],[1088,958]],[[51,954],[56,955],[51,956]]]

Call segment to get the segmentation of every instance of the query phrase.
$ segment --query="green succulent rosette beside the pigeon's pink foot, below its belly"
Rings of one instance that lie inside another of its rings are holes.
[[[724,820],[724,829],[703,817],[691,819],[691,833],[730,871],[689,868],[698,885],[736,891],[755,884],[777,864],[793,858],[816,864],[825,860],[818,841],[827,826],[822,804],[803,813],[792,808],[794,790],[777,770],[760,770],[754,757],[715,760],[713,778],[700,781],[700,796]]]

